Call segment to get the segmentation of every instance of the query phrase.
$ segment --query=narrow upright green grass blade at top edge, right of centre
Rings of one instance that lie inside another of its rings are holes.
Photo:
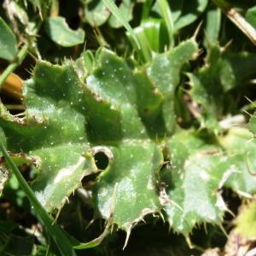
[[[158,0],[158,4],[160,6],[161,15],[166,23],[166,28],[169,35],[170,47],[172,47],[174,42],[173,42],[173,21],[172,21],[171,9],[166,0]]]

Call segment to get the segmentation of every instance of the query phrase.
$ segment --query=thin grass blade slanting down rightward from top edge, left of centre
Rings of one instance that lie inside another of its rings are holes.
[[[137,40],[135,32],[133,32],[133,29],[131,28],[130,24],[127,22],[127,20],[125,20],[125,18],[123,17],[121,12],[119,11],[119,8],[116,6],[113,0],[103,0],[103,3],[108,7],[111,13],[123,24],[123,26],[125,26],[127,32],[131,34],[131,37],[136,42],[138,49],[140,49],[140,44]]]

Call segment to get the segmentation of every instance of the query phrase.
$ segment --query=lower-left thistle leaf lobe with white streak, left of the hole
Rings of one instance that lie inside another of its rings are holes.
[[[85,175],[96,172],[92,156],[88,153],[86,156],[86,150],[86,144],[70,144],[31,152],[42,160],[40,176],[32,183],[32,189],[49,212],[64,205]]]

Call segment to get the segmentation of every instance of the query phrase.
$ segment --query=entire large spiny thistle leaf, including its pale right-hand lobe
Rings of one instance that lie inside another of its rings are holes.
[[[188,40],[155,55],[147,69],[135,70],[101,49],[87,77],[83,68],[76,73],[78,64],[38,63],[24,88],[26,119],[15,119],[2,106],[1,125],[11,150],[21,148],[41,160],[32,188],[46,209],[61,207],[81,178],[96,172],[92,155],[107,150],[108,168],[96,183],[95,206],[109,217],[109,195],[117,183],[113,223],[128,233],[146,214],[160,211],[160,202],[173,229],[185,235],[195,224],[221,221],[226,208],[216,191],[226,182],[224,175],[233,175],[233,162],[203,138],[183,131],[166,139],[172,166],[164,180],[171,203],[163,204],[155,187],[164,162],[154,139],[174,131],[180,72],[197,51],[195,41]],[[84,77],[85,83],[79,79]]]

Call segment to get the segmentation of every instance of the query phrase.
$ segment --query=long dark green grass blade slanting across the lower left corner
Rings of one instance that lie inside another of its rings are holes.
[[[0,140],[0,148],[3,152],[3,156],[5,157],[7,163],[9,164],[9,168],[12,172],[14,172],[15,177],[20,183],[20,188],[25,192],[27,198],[29,199],[32,207],[34,207],[35,212],[38,213],[39,218],[44,224],[46,230],[49,232],[49,235],[55,241],[55,244],[59,248],[61,255],[63,256],[75,256],[76,253],[73,250],[73,247],[70,241],[67,239],[67,236],[61,230],[61,228],[54,223],[54,219],[49,217],[48,213],[45,212],[44,207],[38,201],[36,195],[33,193],[32,189],[26,183],[26,180],[21,175],[18,167],[15,165],[14,161],[11,160],[6,148],[3,145],[2,140]]]

